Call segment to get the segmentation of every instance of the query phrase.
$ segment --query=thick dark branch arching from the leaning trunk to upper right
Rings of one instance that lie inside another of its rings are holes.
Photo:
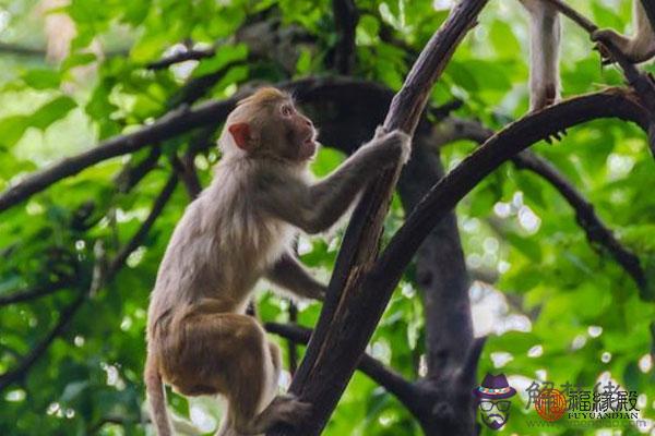
[[[364,312],[360,312],[362,307],[352,308],[352,316],[357,319],[362,313],[384,307],[425,237],[480,180],[540,138],[598,118],[633,121],[644,130],[648,126],[648,112],[640,105],[636,95],[614,88],[564,100],[531,113],[489,138],[436,184],[407,217],[364,284],[376,299],[368,299],[362,304],[372,303],[373,307],[366,306]],[[368,292],[365,290],[362,293]],[[353,325],[350,328],[356,329]]]

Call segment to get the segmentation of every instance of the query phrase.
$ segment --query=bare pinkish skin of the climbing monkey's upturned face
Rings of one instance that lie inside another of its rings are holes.
[[[311,120],[298,112],[290,101],[282,102],[278,111],[288,146],[287,157],[298,161],[311,158],[317,150],[317,131]]]

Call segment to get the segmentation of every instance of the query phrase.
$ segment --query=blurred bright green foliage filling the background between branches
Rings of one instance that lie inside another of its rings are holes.
[[[46,46],[37,3],[0,1],[0,37],[7,47]],[[431,0],[356,3],[361,16],[354,75],[398,89],[414,57],[448,11],[434,10],[433,4],[442,2]],[[599,25],[628,26],[628,1],[620,2],[619,9],[617,2],[600,0],[570,3]],[[525,113],[526,20],[519,3],[511,4],[490,2],[434,87],[431,105],[460,98],[464,106],[457,116],[483,120],[493,129]],[[337,40],[327,0],[72,0],[60,10],[75,23],[76,36],[59,64],[46,62],[43,56],[0,59],[1,191],[55,160],[151,123],[179,101],[224,98],[249,82],[329,74]],[[233,38],[245,23],[261,20],[301,32],[311,43],[294,43],[297,57],[286,59]],[[622,85],[616,68],[600,68],[587,35],[569,22],[564,34],[565,96]],[[216,53],[199,62],[147,69],[189,41],[201,48],[216,45]],[[212,82],[211,76],[218,77]],[[190,84],[203,81],[210,83],[207,88],[189,97]],[[155,169],[127,192],[117,175],[128,159],[115,158],[2,213],[0,296],[61,278],[69,281],[47,296],[0,307],[0,374],[17,367],[57,325],[61,311],[90,288],[94,265],[103,256],[114,258],[135,234],[170,173],[169,158],[195,147],[198,136],[192,132],[156,144],[163,156]],[[465,143],[449,145],[442,152],[444,166],[452,169],[474,148]],[[655,172],[643,132],[621,121],[599,120],[572,129],[555,145],[538,144],[534,149],[594,204],[618,240],[639,255],[650,282],[655,283],[651,192]],[[140,152],[131,162],[148,155],[150,149]],[[218,158],[213,148],[196,157],[203,184]],[[343,158],[323,149],[312,170],[326,174]],[[145,310],[158,263],[188,201],[178,187],[127,266],[88,298],[26,376],[0,392],[0,434],[146,434],[141,380]],[[653,419],[655,373],[647,353],[655,307],[640,299],[634,282],[603,247],[588,243],[562,196],[541,178],[508,164],[486,178],[456,211],[472,276],[495,281],[472,288],[476,332],[490,335],[480,374],[504,372],[532,380],[545,371],[557,384],[593,386],[608,373],[647,398],[642,414]],[[394,198],[385,241],[403,217]],[[326,280],[342,238],[341,230],[301,238],[302,262]],[[654,294],[651,284],[645,295]],[[263,319],[288,320],[287,301],[265,294],[258,303]],[[318,304],[301,304],[298,322],[313,326],[319,311]],[[370,346],[377,359],[408,379],[419,377],[425,360],[422,311],[410,268]],[[279,343],[288,358],[286,342]],[[499,360],[499,353],[509,359]],[[206,402],[175,395],[170,404],[178,416],[191,415],[207,433],[221,413]],[[522,409],[519,403],[514,407]],[[536,419],[534,410],[513,413],[504,433],[534,434],[525,424],[525,419]],[[548,433],[582,434],[567,422]],[[393,396],[358,374],[325,434],[418,435],[420,429]]]

